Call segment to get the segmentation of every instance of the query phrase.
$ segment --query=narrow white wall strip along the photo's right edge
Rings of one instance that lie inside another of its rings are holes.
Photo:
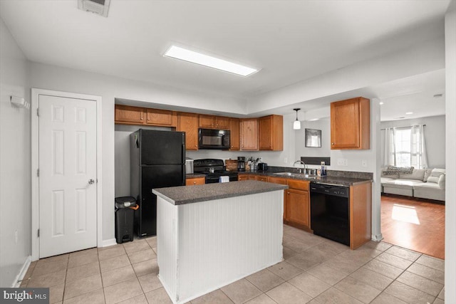
[[[445,190],[445,302],[456,303],[456,1],[445,14],[445,112],[446,169]],[[450,287],[450,286],[453,286]]]

